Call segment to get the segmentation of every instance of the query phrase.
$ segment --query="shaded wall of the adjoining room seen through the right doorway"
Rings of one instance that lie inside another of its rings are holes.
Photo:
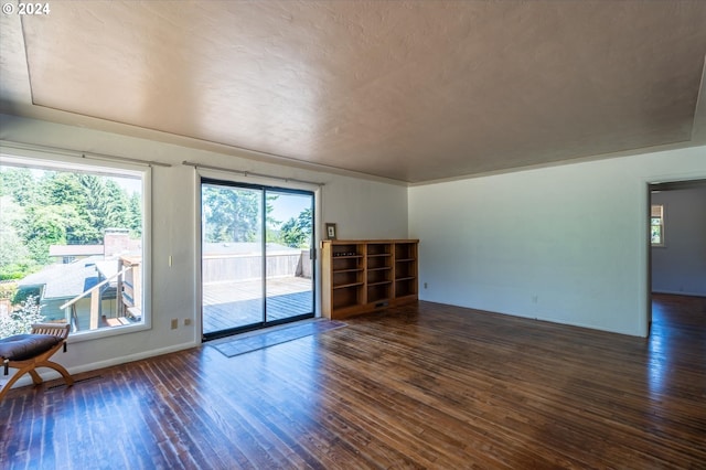
[[[654,193],[665,246],[652,248],[652,291],[706,296],[706,185]]]

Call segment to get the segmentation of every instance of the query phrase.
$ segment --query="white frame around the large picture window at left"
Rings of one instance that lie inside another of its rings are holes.
[[[149,163],[138,164],[103,158],[92,158],[89,156],[76,157],[63,153],[53,149],[26,149],[15,148],[0,142],[0,164],[15,168],[36,168],[55,171],[82,171],[90,174],[106,177],[137,177],[141,180],[142,190],[142,320],[139,323],[126,324],[121,327],[104,327],[97,330],[86,330],[72,332],[67,342],[77,343],[83,341],[110,338],[120,334],[130,334],[138,331],[150,330],[152,328],[151,308],[151,285],[152,285],[152,200],[151,200],[151,167]]]

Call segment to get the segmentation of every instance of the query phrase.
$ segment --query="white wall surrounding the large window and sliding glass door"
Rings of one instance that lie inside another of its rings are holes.
[[[175,351],[200,343],[197,299],[197,196],[193,167],[184,160],[264,174],[322,182],[319,235],[335,222],[339,237],[407,237],[407,188],[253,159],[220,154],[147,139],[0,115],[0,139],[171,163],[152,169],[152,328],[129,334],[69,343],[56,359],[76,373]],[[213,175],[213,174],[212,174]],[[252,181],[222,173],[223,178]],[[263,181],[259,181],[263,182]],[[267,181],[265,181],[267,182]],[[272,185],[284,184],[269,181]],[[172,266],[169,266],[172,256]],[[170,329],[179,318],[180,328]],[[183,327],[183,319],[193,320]]]

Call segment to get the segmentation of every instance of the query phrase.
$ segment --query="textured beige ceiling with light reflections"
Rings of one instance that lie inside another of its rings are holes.
[[[406,182],[700,135],[706,1],[50,6],[2,18],[4,113]]]

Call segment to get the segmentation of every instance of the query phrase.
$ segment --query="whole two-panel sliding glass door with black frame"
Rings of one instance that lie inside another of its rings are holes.
[[[204,340],[313,317],[313,193],[202,180]]]

